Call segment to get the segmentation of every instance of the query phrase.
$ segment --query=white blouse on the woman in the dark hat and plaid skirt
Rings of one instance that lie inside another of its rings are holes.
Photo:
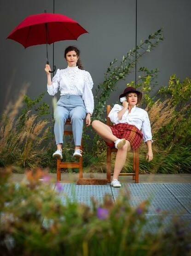
[[[143,134],[143,140],[146,142],[148,140],[152,141],[152,134],[151,134],[151,128],[150,128],[150,121],[148,113],[140,109],[136,106],[133,107],[131,112],[128,114],[128,110],[125,111],[125,113],[122,116],[122,119],[118,119],[117,112],[123,109],[123,106],[119,104],[115,104],[112,110],[110,111],[108,117],[110,117],[110,120],[114,124],[118,123],[128,123],[135,125],[139,130],[141,130]]]

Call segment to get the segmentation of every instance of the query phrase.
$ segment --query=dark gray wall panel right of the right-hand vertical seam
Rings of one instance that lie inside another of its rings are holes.
[[[140,61],[140,66],[158,67],[159,85],[168,85],[170,75],[191,76],[191,1],[138,0],[138,42],[159,27],[165,40]],[[138,65],[139,67],[139,65]]]

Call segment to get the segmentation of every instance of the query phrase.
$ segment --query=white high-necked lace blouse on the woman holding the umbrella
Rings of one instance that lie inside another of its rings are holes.
[[[84,101],[86,112],[92,115],[94,109],[93,80],[89,72],[78,67],[58,69],[52,78],[52,85],[47,85],[48,94],[54,96],[58,90],[64,94],[80,95]]]

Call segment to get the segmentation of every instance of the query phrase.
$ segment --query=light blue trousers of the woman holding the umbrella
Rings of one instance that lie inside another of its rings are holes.
[[[83,120],[86,117],[84,102],[79,95],[62,95],[54,111],[56,145],[63,143],[64,124],[71,119],[75,146],[81,146]]]

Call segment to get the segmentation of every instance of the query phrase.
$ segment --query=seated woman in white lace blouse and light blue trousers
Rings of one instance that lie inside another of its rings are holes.
[[[60,91],[60,99],[54,111],[54,135],[57,145],[54,158],[62,159],[62,144],[64,134],[64,124],[67,119],[71,119],[72,132],[74,136],[75,152],[74,157],[80,158],[82,151],[81,137],[83,120],[86,118],[86,125],[91,123],[91,116],[94,109],[93,101],[93,80],[90,73],[83,70],[80,61],[80,50],[74,46],[65,49],[64,57],[68,63],[65,69],[58,69],[51,79],[50,66],[47,64],[45,71],[47,74],[47,91],[54,96]]]

